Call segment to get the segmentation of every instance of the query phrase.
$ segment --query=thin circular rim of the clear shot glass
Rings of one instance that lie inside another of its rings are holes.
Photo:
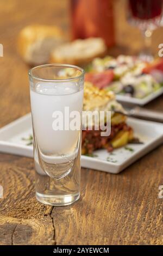
[[[41,78],[39,76],[35,76],[32,74],[33,70],[35,69],[39,69],[39,68],[48,68],[49,66],[54,66],[54,67],[66,67],[66,68],[74,68],[74,69],[78,69],[79,71],[81,71],[82,73],[79,76],[75,76],[75,77],[70,77],[70,78],[61,78],[61,79],[46,79],[46,78]],[[85,74],[84,69],[80,68],[79,66],[76,65],[71,65],[71,64],[43,64],[43,65],[39,65],[39,66],[34,66],[34,68],[29,69],[28,71],[28,75],[29,77],[32,77],[36,80],[39,81],[43,81],[43,82],[68,82],[68,81],[72,81],[74,79],[79,79],[81,77],[83,77]]]

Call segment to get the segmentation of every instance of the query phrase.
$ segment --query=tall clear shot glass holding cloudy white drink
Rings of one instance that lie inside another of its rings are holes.
[[[84,70],[47,64],[29,70],[35,190],[39,202],[72,204],[80,197]]]

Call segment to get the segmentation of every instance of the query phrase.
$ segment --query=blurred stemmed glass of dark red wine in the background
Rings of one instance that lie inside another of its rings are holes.
[[[146,61],[153,59],[151,36],[154,29],[163,24],[162,5],[163,0],[128,0],[127,20],[142,32],[144,46],[140,57]]]

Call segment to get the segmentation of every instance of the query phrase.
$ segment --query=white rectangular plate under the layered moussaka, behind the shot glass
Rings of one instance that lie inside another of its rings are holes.
[[[128,118],[136,137],[143,144],[128,144],[127,147],[108,153],[97,150],[94,157],[82,156],[82,167],[102,170],[108,173],[120,173],[131,163],[147,154],[163,142],[163,125],[151,121]],[[31,114],[27,114],[0,129],[0,151],[21,156],[33,157],[33,146],[26,145],[22,138],[32,135]]]

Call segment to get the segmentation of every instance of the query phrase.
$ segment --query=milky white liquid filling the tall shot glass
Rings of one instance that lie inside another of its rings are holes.
[[[45,155],[70,154],[76,147],[80,131],[54,131],[54,111],[65,113],[69,111],[82,113],[83,90],[76,83],[43,83],[40,82],[35,92],[30,90],[33,126],[37,144]],[[65,117],[64,117],[65,118]]]

